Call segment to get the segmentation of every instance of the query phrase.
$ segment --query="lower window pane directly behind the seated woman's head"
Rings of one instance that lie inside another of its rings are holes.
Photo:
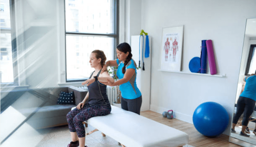
[[[89,78],[94,71],[89,63],[93,50],[103,50],[107,60],[113,57],[114,38],[66,35],[67,81]]]

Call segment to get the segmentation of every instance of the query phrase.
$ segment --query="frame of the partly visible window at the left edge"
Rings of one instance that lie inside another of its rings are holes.
[[[0,83],[1,87],[5,86],[18,86],[18,66],[17,66],[17,42],[15,33],[15,7],[14,0],[10,0],[10,23],[11,28],[0,28],[1,33],[11,34],[11,47],[12,47],[12,64],[13,64],[13,83]],[[2,77],[1,77],[2,78]]]

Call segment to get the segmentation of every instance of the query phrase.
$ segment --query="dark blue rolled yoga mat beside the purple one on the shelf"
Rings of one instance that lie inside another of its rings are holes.
[[[206,40],[202,40],[201,46],[201,70],[200,73],[206,73],[207,66],[207,49],[206,49]]]

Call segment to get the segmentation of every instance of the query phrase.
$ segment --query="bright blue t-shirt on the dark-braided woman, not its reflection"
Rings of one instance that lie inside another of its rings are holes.
[[[118,64],[116,75],[119,79],[122,79],[124,76],[124,74],[122,73],[122,68],[124,64],[122,61],[119,61],[119,59],[116,59],[116,63]],[[121,91],[121,95],[124,99],[136,99],[141,96],[141,92],[138,89],[136,84],[136,75],[137,75],[136,67],[137,65],[133,59],[131,59],[126,65],[125,69],[133,68],[135,69],[135,72],[133,77],[128,82],[121,84],[119,87]]]

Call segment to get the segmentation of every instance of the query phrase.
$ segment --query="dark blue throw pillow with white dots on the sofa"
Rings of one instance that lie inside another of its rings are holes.
[[[75,105],[75,95],[72,91],[71,93],[66,93],[61,91],[57,104],[68,104],[68,105]]]

